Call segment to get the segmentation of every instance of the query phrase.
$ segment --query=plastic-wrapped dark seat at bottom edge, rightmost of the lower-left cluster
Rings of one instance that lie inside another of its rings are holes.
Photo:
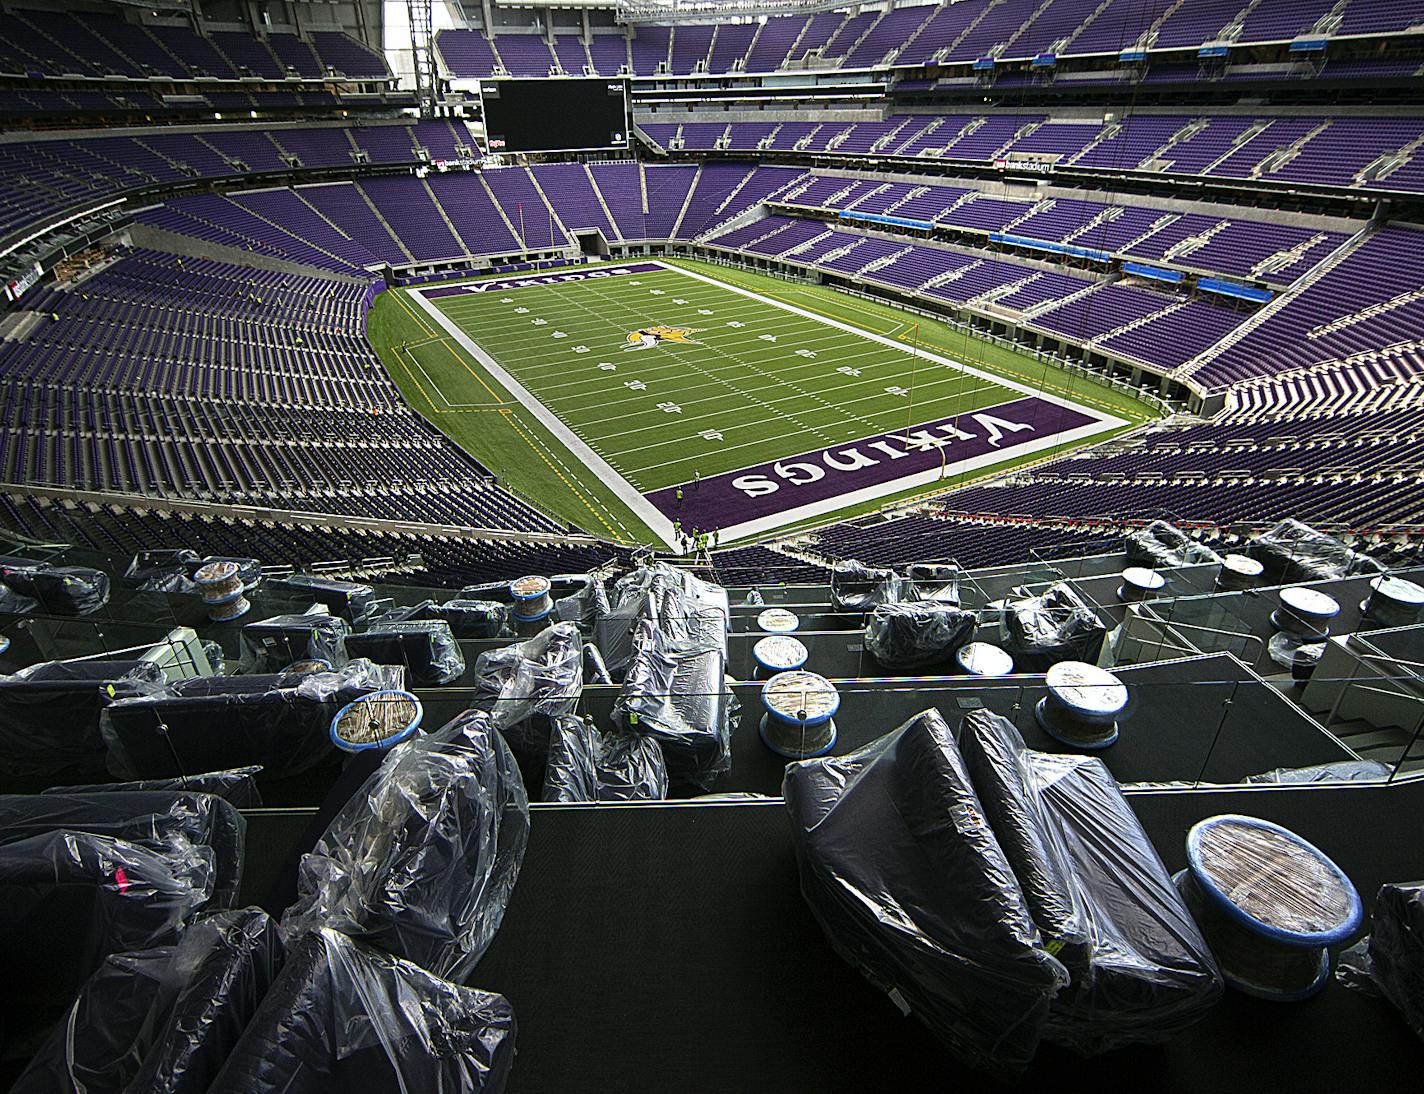
[[[503,996],[459,987],[335,930],[286,964],[209,1094],[500,1094],[514,1061]]]

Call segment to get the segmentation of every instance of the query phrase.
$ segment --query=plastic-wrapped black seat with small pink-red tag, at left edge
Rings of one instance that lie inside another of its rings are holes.
[[[0,1054],[31,1053],[110,954],[177,942],[212,896],[205,866],[67,829],[0,846]]]

